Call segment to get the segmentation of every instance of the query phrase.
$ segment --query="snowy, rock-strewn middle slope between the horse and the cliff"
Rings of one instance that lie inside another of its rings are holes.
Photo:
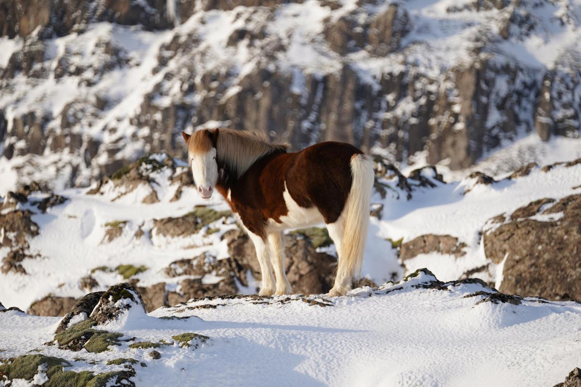
[[[564,241],[572,255],[573,266],[564,270],[575,272],[576,234],[562,227],[568,219],[571,230],[578,223],[579,160],[542,168],[530,164],[496,180],[475,173],[446,182],[439,167],[406,176],[378,159],[361,284],[374,286],[429,267],[444,281],[479,277],[498,289],[511,288],[512,282],[503,284],[504,253],[487,246],[500,238],[493,231],[523,216],[536,222],[529,227],[550,226],[568,235],[556,240]],[[35,189],[9,193],[2,205],[3,302],[52,316],[64,313],[87,291],[104,291],[123,280],[138,286],[148,310],[190,298],[257,291],[260,269],[252,243],[222,198],[199,198],[191,171],[180,160],[158,153],[91,188]],[[540,199],[543,205],[531,212],[529,203]],[[523,209],[522,216],[512,215]],[[285,245],[293,291],[328,291],[336,252],[324,225],[290,231]],[[553,251],[550,243],[546,248]],[[551,259],[565,260],[569,250],[555,249]],[[507,255],[509,266],[518,259],[508,250]],[[556,281],[546,271],[537,274]],[[551,282],[547,289],[553,286]],[[528,289],[523,295],[579,298],[576,291]]]

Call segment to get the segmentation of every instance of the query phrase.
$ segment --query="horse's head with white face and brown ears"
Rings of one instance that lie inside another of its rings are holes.
[[[193,181],[203,199],[210,199],[218,181],[216,144],[218,129],[203,129],[188,135],[182,132],[188,144],[188,160],[192,166]]]

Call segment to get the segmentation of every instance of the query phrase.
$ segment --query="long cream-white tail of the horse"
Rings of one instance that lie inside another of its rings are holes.
[[[365,239],[369,230],[371,191],[373,189],[373,164],[368,156],[353,155],[351,158],[353,183],[345,209],[344,228],[337,269],[335,289],[345,294],[351,288],[355,275],[361,275]]]

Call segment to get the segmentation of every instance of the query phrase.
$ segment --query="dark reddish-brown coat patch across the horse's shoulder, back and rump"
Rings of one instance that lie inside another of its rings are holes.
[[[268,219],[282,223],[288,214],[286,188],[304,208],[317,207],[325,223],[339,218],[352,185],[351,159],[363,152],[341,142],[322,142],[296,153],[272,153],[257,160],[240,178],[226,171],[216,188],[253,234],[266,238]],[[221,167],[221,166],[218,166]],[[222,166],[223,167],[223,166]]]

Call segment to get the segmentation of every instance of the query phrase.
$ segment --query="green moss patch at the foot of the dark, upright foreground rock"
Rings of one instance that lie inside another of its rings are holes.
[[[85,347],[88,352],[95,353],[107,350],[110,345],[120,345],[118,339],[123,334],[93,329],[94,325],[96,325],[95,321],[90,318],[77,322],[72,327],[56,334],[55,340],[61,347],[67,346],[73,350],[81,350]]]

